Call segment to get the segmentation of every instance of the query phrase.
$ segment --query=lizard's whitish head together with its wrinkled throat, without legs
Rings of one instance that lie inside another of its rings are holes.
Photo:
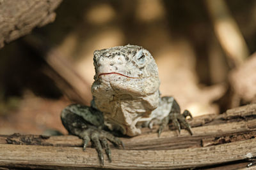
[[[115,46],[96,50],[93,64],[92,106],[104,113],[105,124],[116,124],[129,136],[139,134],[136,123],[148,117],[159,102],[154,58],[141,46]]]

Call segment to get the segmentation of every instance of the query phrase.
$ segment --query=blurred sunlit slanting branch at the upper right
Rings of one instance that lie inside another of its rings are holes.
[[[212,19],[215,34],[228,60],[235,66],[240,66],[249,56],[249,50],[236,20],[230,15],[225,1],[207,0],[205,4]]]

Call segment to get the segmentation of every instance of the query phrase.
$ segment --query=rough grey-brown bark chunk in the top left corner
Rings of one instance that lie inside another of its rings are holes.
[[[0,48],[24,36],[35,27],[53,22],[61,0],[0,1]]]

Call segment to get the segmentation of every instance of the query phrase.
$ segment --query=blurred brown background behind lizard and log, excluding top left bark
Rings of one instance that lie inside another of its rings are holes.
[[[92,99],[93,52],[127,44],[152,53],[162,96],[194,117],[255,103],[256,1],[64,0],[0,49],[0,134],[67,133],[61,110]]]

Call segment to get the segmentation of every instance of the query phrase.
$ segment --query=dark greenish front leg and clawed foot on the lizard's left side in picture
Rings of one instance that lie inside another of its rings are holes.
[[[92,141],[99,154],[100,163],[104,165],[102,148],[105,148],[109,162],[111,162],[111,150],[108,140],[116,146],[124,145],[122,141],[104,128],[104,117],[102,112],[89,106],[71,104],[61,111],[61,121],[70,134],[83,139],[83,150],[86,149],[89,141]]]

